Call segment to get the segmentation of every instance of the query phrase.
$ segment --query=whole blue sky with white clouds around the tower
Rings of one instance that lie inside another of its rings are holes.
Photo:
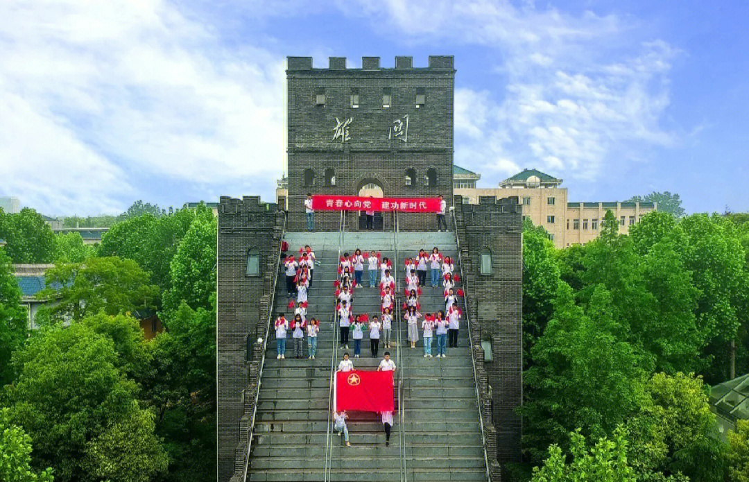
[[[49,215],[261,195],[285,58],[455,55],[455,163],[570,201],[749,211],[743,1],[0,2],[0,195]]]

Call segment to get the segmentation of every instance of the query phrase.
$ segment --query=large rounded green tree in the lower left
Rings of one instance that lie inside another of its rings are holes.
[[[85,323],[43,329],[14,353],[10,420],[34,440],[35,464],[52,466],[59,481],[163,472],[163,448],[120,363],[112,339]]]

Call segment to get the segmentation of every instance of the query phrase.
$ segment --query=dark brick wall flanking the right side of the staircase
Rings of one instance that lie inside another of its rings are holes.
[[[523,275],[523,226],[518,198],[482,197],[478,205],[462,204],[455,196],[455,221],[461,242],[466,276],[466,296],[473,337],[491,342],[492,361],[480,364],[488,386],[482,409],[490,414],[496,429],[497,460],[517,462],[521,458],[522,420],[515,413],[523,400],[521,306]],[[491,252],[491,274],[480,273],[484,249]],[[476,345],[476,341],[473,341]],[[491,406],[484,405],[491,400]]]

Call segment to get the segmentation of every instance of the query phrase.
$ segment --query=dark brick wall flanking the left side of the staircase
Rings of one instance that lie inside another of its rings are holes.
[[[255,341],[265,336],[285,214],[257,196],[222,197],[218,211],[218,480],[224,482],[243,466],[262,355]],[[250,249],[258,250],[258,276],[246,275]]]

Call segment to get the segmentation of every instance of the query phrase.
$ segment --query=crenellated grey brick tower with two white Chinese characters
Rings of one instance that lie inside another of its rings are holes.
[[[428,67],[396,57],[395,68],[363,57],[349,69],[331,57],[288,57],[289,229],[304,230],[306,194],[358,195],[365,186],[385,197],[436,197],[452,203],[452,56],[431,56]],[[432,216],[401,213],[401,227],[434,228]],[[357,229],[349,216],[347,229]],[[385,216],[387,227],[390,219]],[[339,213],[316,213],[315,228],[337,230]]]

